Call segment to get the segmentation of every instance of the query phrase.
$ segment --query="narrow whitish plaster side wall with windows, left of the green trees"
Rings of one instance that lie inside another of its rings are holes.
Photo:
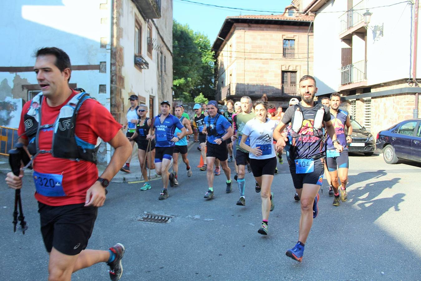
[[[131,94],[144,96],[146,104],[149,107],[149,96],[155,96],[157,99],[157,51],[152,50],[152,59],[147,55],[147,21],[142,18],[141,14],[131,0],[123,0],[123,13],[120,14],[120,23],[123,28],[123,36],[120,44],[124,47],[124,64],[122,72],[124,76],[124,89],[122,95],[124,98],[124,111],[130,107],[128,100]],[[138,70],[134,64],[134,28],[135,14],[142,25],[142,56],[149,63],[149,69]],[[152,38],[157,38],[156,28],[153,24]],[[155,112],[158,110],[158,103],[155,101]]]

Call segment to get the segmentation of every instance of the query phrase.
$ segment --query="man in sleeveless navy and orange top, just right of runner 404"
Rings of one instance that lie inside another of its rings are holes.
[[[338,93],[330,95],[330,115],[333,126],[335,127],[336,136],[339,143],[344,147],[342,152],[336,151],[330,136],[326,139],[326,164],[330,174],[330,180],[333,187],[335,198],[333,198],[333,206],[339,206],[339,192],[341,193],[341,201],[345,202],[348,195],[346,194],[346,184],[348,182],[348,147],[347,143],[352,142],[352,126],[348,112],[339,109],[341,106],[341,96]],[[348,133],[345,136],[345,126]],[[338,182],[341,181],[341,185]]]

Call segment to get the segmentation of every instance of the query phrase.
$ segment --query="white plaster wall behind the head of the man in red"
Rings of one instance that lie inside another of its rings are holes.
[[[109,41],[109,10],[100,9],[106,0],[42,0],[5,1],[0,9],[0,33],[7,40],[0,41],[2,67],[32,67],[34,51],[55,46],[63,49],[72,65],[98,65],[106,62],[106,48],[100,48],[101,37]],[[30,3],[30,5],[28,5]],[[83,8],[82,8],[83,7]],[[101,18],[107,21],[101,24]],[[18,72],[32,84],[37,84],[33,72]],[[0,81],[7,79],[13,88],[16,73],[0,72]],[[77,83],[103,103],[99,85],[107,84],[109,75],[99,70],[72,71],[70,83]]]

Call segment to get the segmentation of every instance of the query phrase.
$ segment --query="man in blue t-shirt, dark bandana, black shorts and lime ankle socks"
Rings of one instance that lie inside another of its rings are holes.
[[[231,123],[218,113],[218,103],[216,101],[208,102],[208,116],[205,117],[203,134],[208,136],[206,142],[206,164],[208,167],[206,177],[208,178],[208,191],[204,198],[213,198],[213,163],[218,159],[226,176],[226,193],[232,190],[231,170],[228,167],[228,147],[226,140],[232,136]]]

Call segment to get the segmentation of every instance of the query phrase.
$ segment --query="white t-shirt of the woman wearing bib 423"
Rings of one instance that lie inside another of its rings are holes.
[[[275,120],[266,118],[265,123],[261,123],[256,118],[251,119],[245,123],[242,129],[242,134],[250,138],[250,147],[259,149],[263,155],[256,156],[250,152],[249,157],[253,159],[269,159],[276,156],[275,147],[273,144],[273,130],[276,128]]]

